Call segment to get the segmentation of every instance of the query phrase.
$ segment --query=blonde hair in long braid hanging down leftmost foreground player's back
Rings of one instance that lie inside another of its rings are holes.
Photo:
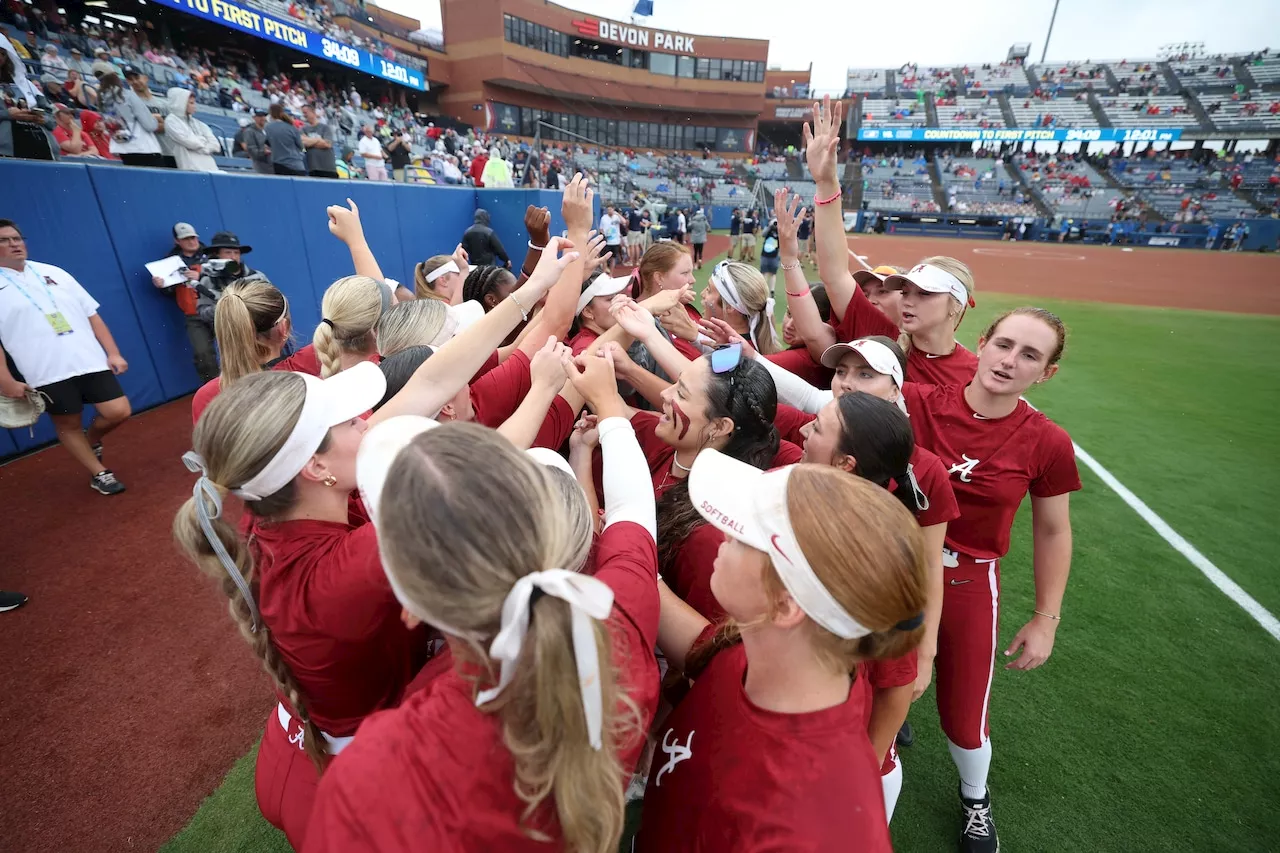
[[[316,767],[324,770],[328,760],[324,736],[311,720],[302,688],[271,643],[269,626],[255,625],[260,622],[256,605],[259,579],[252,551],[221,514],[228,491],[252,479],[288,439],[305,396],[306,386],[301,377],[265,371],[242,378],[209,403],[192,437],[201,479],[192,497],[178,508],[173,535],[196,567],[219,583],[227,596],[232,621],[302,722],[303,749]],[[275,517],[291,508],[294,500],[294,485],[289,483],[261,501],[246,501],[244,507],[256,516]],[[206,524],[212,538],[205,530]],[[230,565],[223,562],[219,547]],[[237,580],[242,580],[244,588]]]

